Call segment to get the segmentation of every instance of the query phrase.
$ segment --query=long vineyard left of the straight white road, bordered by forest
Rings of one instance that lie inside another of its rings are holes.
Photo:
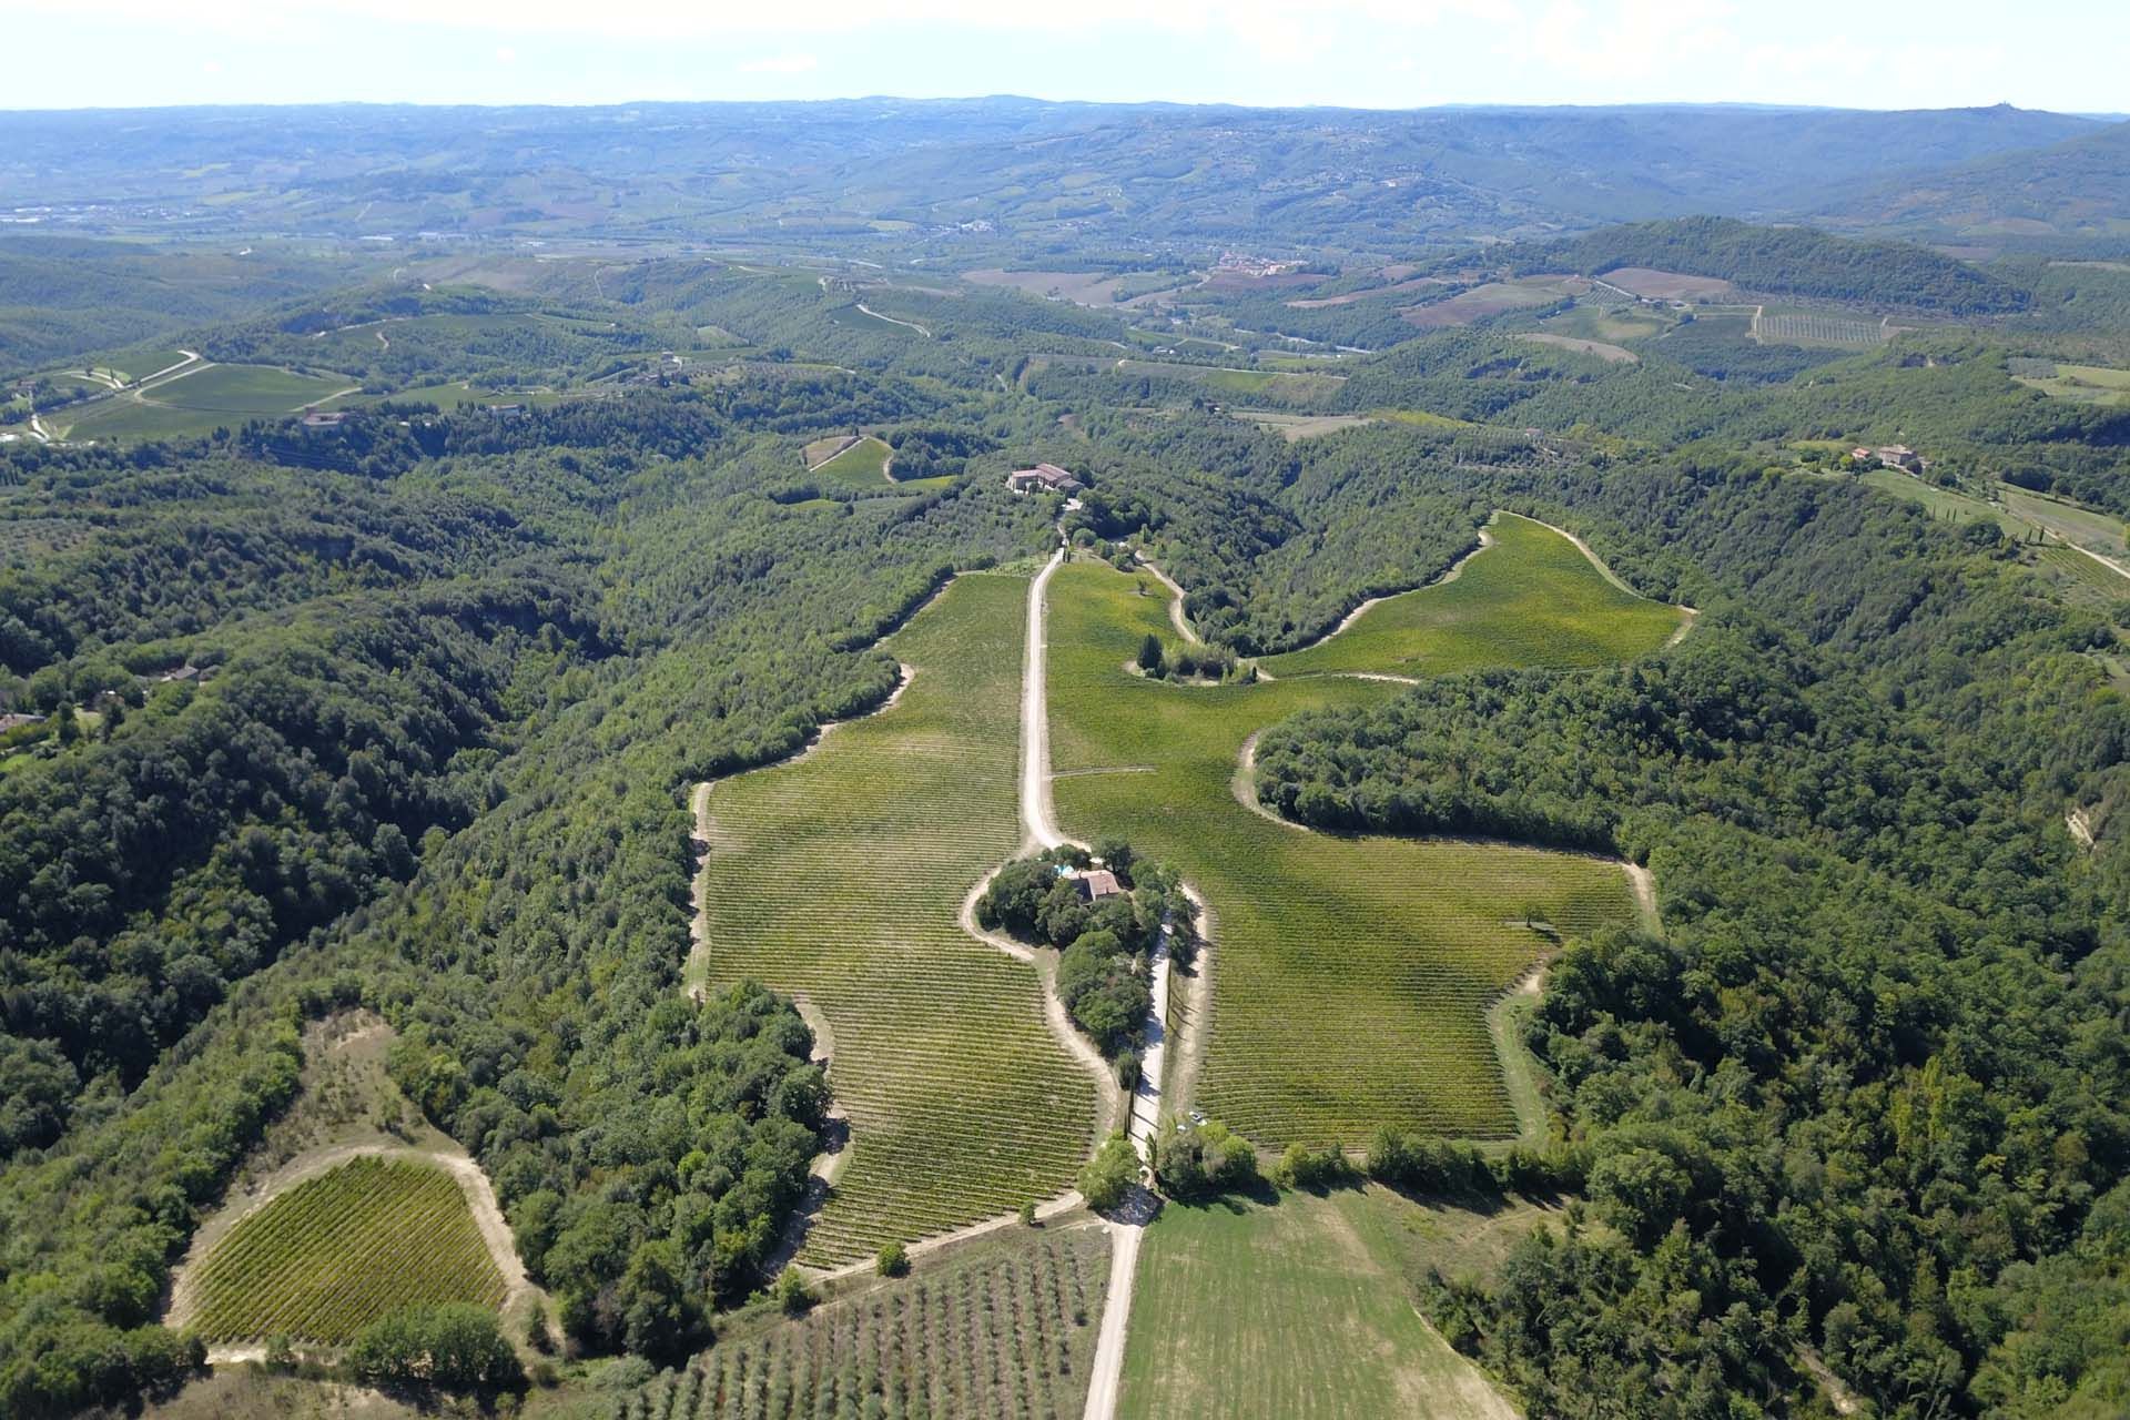
[[[888,641],[916,668],[895,707],[709,792],[690,977],[803,994],[850,1116],[809,1265],[1065,1192],[1093,1139],[1095,1084],[1048,1033],[1035,971],[958,924],[1020,843],[1027,590],[956,579]]]

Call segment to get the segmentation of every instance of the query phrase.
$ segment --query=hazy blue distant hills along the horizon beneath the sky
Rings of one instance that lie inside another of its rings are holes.
[[[2090,138],[2024,109],[1235,109],[863,98],[0,113],[0,219],[92,234],[1414,251],[1830,192]],[[2113,162],[2111,158],[2107,162]]]

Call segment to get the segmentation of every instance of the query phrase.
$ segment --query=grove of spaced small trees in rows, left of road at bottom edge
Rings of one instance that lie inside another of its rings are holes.
[[[1078,1420],[1108,1284],[1103,1228],[1042,1235],[726,1339],[613,1420]]]

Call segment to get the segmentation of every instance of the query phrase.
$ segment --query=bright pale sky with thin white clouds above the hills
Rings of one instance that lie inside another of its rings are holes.
[[[0,109],[961,98],[2130,111],[2130,0],[0,0]]]

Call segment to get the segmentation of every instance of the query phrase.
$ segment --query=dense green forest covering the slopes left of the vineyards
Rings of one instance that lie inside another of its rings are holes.
[[[788,517],[763,498],[773,436],[665,460],[639,453],[654,422],[386,483],[213,445],[19,460],[11,515],[100,532],[23,568],[11,671],[222,664],[0,775],[26,905],[0,952],[0,1409],[121,1403],[198,1363],[153,1326],[168,1269],[290,1103],[298,1022],[356,1003],[488,1169],[575,1345],[679,1356],[765,1282],[826,1086],[786,1003],[679,990],[684,786],[882,698],[871,639],[941,568],[1046,528],[1003,488]],[[307,547],[313,507],[375,541],[375,577]],[[32,590],[194,524],[245,536],[173,554],[164,600]]]

